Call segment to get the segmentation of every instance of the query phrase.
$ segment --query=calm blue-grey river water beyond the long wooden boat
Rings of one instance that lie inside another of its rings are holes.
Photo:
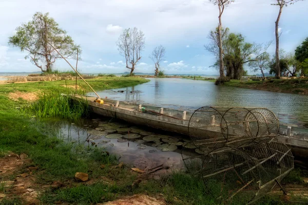
[[[182,110],[195,110],[202,106],[264,107],[272,110],[281,122],[298,126],[308,122],[308,97],[305,95],[221,87],[204,80],[149,79],[145,84],[106,90],[99,92],[99,95],[102,98],[107,96],[110,99]]]

